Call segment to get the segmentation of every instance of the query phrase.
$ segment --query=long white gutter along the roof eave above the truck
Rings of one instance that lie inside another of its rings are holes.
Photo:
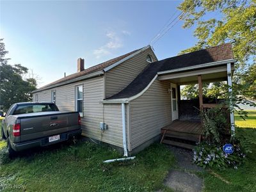
[[[76,82],[76,81],[81,81],[81,80],[84,80],[84,79],[89,79],[89,78],[91,78],[91,77],[101,76],[101,75],[103,75],[103,74],[104,74],[104,71],[100,70],[100,71],[98,71],[98,72],[94,72],[94,73],[88,74],[88,75],[86,75],[86,76],[81,76],[81,77],[77,77],[77,78],[75,78],[75,79],[70,79],[70,80],[68,80],[68,81],[64,81],[64,82],[61,82],[61,83],[53,84],[53,85],[51,85],[51,86],[47,86],[47,87],[45,87],[45,88],[39,88],[38,90],[35,90],[35,91],[31,92],[31,93],[42,92],[42,91],[44,91],[44,90],[49,90],[49,89],[55,88],[55,87],[57,87],[57,86],[62,86],[62,85],[65,85],[65,84],[74,83],[74,82]]]

